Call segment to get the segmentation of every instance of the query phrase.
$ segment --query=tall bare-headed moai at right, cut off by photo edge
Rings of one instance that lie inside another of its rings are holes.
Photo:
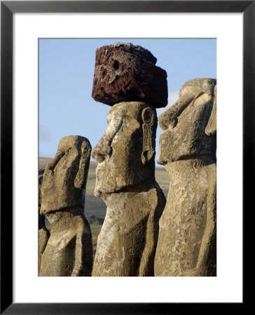
[[[170,189],[155,276],[216,276],[216,80],[186,82],[158,120]]]

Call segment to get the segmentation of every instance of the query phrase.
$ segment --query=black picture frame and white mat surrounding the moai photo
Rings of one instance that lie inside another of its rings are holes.
[[[254,191],[254,13],[254,1],[1,1],[1,313],[173,314],[208,303],[244,305],[242,211]],[[40,38],[216,38],[216,277],[37,276]]]

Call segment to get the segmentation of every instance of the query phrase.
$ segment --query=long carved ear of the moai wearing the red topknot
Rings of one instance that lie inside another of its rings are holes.
[[[150,107],[146,107],[142,111],[142,131],[143,131],[143,148],[142,148],[142,164],[146,164],[153,158],[155,150],[152,146],[152,126],[154,113]]]

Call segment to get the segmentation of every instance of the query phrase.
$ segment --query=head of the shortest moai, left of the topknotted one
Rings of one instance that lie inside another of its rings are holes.
[[[80,136],[64,137],[46,166],[41,184],[41,214],[66,207],[84,207],[91,146]]]

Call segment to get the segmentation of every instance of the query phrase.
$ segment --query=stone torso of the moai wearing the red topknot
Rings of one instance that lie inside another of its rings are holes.
[[[162,191],[116,193],[104,201],[108,207],[92,276],[153,276]]]

